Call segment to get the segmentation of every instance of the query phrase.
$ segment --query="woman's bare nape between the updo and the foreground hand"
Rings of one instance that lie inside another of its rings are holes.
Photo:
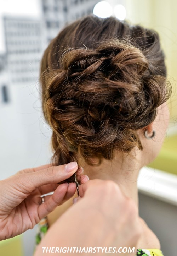
[[[122,193],[132,198],[138,207],[138,189],[137,179],[141,164],[139,154],[132,156],[127,154],[125,157],[116,156],[112,161],[103,159],[99,166],[84,165],[84,174],[91,179],[113,180],[115,181]],[[123,159],[123,160],[122,160]],[[92,158],[95,163],[96,159]]]

